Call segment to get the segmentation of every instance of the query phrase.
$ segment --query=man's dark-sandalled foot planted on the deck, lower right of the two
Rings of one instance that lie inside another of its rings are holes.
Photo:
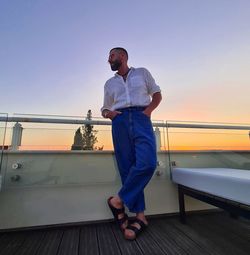
[[[132,224],[129,224],[124,231],[124,237],[128,240],[135,240],[136,237],[148,226],[146,219],[136,218]]]

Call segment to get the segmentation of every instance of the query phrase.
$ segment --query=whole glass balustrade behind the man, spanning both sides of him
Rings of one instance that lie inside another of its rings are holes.
[[[109,120],[14,115],[6,121],[7,115],[0,122],[5,189],[119,182]],[[96,138],[91,148],[83,142],[86,125]],[[174,166],[250,170],[250,125],[160,120],[153,126],[156,180],[169,180]]]

